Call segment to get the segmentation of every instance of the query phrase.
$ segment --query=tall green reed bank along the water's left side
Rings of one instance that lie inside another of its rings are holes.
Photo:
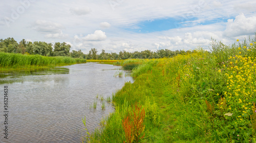
[[[0,71],[47,69],[86,62],[86,59],[74,59],[71,57],[46,57],[40,55],[0,53]]]

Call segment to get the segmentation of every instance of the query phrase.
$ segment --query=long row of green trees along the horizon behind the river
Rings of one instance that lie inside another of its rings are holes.
[[[157,50],[157,52],[152,52],[150,50],[145,50],[141,52],[126,52],[120,51],[119,53],[106,53],[104,50],[99,54],[97,49],[92,48],[88,54],[83,54],[81,50],[70,52],[71,45],[66,42],[55,42],[52,43],[35,41],[30,42],[25,39],[17,42],[14,38],[0,39],[0,52],[6,53],[20,53],[27,55],[42,55],[42,56],[67,56],[72,58],[81,59],[98,59],[98,60],[124,60],[124,59],[157,59],[164,57],[173,57],[177,54],[191,53],[193,51],[182,51],[176,50],[171,51],[168,49]]]

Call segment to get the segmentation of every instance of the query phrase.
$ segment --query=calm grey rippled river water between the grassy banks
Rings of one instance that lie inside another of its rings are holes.
[[[0,142],[79,142],[84,128],[99,127],[102,117],[113,111],[101,102],[131,77],[114,77],[119,66],[76,64],[44,71],[0,74],[0,91],[8,86],[8,138],[4,138],[4,96],[1,96]],[[90,105],[97,101],[97,108]]]

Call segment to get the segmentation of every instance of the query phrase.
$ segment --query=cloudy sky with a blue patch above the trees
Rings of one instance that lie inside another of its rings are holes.
[[[0,39],[66,42],[89,53],[208,49],[254,36],[256,1],[1,0]]]

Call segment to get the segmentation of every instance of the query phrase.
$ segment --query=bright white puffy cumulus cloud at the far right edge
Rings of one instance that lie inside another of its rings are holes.
[[[243,13],[236,19],[228,19],[224,36],[236,37],[242,35],[253,35],[256,32],[256,16],[246,18]]]

